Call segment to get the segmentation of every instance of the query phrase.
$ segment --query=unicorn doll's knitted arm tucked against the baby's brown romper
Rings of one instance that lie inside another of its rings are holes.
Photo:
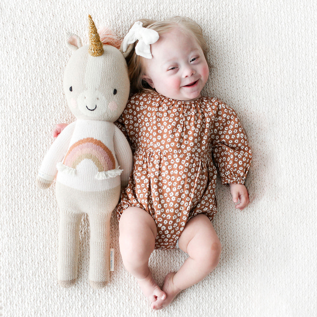
[[[117,126],[114,129],[113,144],[116,158],[120,168],[123,169],[121,173],[121,187],[126,187],[132,171],[132,151],[129,142]]]

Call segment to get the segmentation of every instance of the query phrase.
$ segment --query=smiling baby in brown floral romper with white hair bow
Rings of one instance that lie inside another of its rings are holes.
[[[249,203],[244,181],[251,163],[246,135],[233,109],[202,97],[209,67],[201,28],[191,19],[140,20],[124,39],[134,94],[117,125],[133,150],[133,173],[116,211],[120,252],[155,310],[204,279],[218,264],[221,245],[216,175],[230,185],[236,208]],[[58,134],[58,126],[55,134]],[[188,258],[162,288],[149,257],[178,247]]]

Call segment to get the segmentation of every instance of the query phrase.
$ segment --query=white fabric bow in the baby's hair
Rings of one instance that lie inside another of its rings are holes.
[[[139,40],[135,46],[135,53],[145,58],[152,58],[150,44],[155,43],[159,39],[159,33],[142,27],[143,23],[140,21],[134,22],[132,28],[123,39],[123,52],[126,51],[129,44]]]

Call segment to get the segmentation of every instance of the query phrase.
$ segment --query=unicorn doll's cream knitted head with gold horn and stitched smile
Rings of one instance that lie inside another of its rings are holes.
[[[124,55],[103,45],[91,16],[90,44],[67,33],[68,47],[75,50],[65,68],[63,87],[68,106],[77,119],[114,122],[129,96],[129,76]]]

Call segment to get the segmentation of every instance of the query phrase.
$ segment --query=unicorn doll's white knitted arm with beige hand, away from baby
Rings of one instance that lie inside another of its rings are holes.
[[[52,184],[57,172],[56,164],[61,162],[68,150],[69,141],[73,135],[75,123],[76,122],[73,122],[65,127],[59,137],[55,139],[54,143],[49,148],[49,151],[46,153],[36,177],[36,184],[40,188],[46,189]]]

